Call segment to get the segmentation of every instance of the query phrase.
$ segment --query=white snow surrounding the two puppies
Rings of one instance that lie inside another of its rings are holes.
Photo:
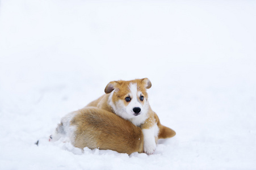
[[[0,2],[0,169],[256,169],[255,1]],[[111,80],[145,77],[177,132],[153,155],[46,141]]]

